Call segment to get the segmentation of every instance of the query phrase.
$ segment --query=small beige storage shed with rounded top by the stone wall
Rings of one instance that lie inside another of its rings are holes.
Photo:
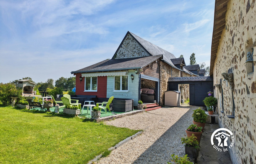
[[[179,107],[181,102],[181,92],[169,90],[164,92],[164,105]]]

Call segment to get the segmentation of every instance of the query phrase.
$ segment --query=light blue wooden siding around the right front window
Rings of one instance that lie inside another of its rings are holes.
[[[134,80],[131,79],[131,74],[134,76]],[[131,98],[134,99],[134,106],[137,106],[139,101],[139,74],[136,74],[134,70],[129,70],[127,75],[128,92],[114,92],[114,76],[107,77],[107,98],[111,96],[114,96],[114,98]]]

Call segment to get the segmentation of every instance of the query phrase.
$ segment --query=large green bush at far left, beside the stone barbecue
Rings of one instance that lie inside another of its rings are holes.
[[[3,105],[10,105],[12,102],[11,97],[22,97],[22,89],[15,86],[12,83],[0,84],[0,101]]]

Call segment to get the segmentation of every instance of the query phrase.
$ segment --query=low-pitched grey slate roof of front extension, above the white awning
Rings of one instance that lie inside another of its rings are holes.
[[[71,74],[80,72],[101,72],[101,71],[120,71],[128,69],[141,69],[150,63],[161,58],[162,55],[154,55],[147,57],[125,58],[125,59],[106,59],[104,61],[93,64],[92,66],[72,71]]]

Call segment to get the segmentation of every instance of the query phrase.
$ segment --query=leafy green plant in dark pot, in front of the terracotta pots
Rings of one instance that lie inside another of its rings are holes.
[[[195,160],[199,150],[199,142],[196,139],[194,134],[191,137],[181,138],[181,143],[185,144],[185,154],[187,154],[187,157],[194,158]]]

